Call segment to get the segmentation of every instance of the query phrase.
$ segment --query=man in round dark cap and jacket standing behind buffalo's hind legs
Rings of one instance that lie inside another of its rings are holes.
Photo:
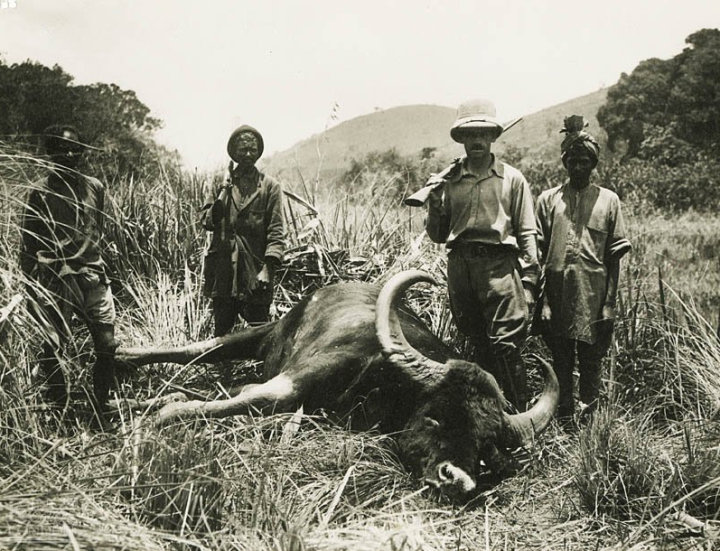
[[[282,188],[255,163],[262,135],[241,126],[231,135],[227,182],[210,189],[201,210],[212,240],[205,258],[205,295],[212,298],[215,336],[228,333],[238,315],[268,321],[275,274],[285,250]]]

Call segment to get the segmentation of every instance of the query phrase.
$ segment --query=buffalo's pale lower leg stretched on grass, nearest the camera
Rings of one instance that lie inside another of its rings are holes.
[[[158,412],[154,424],[161,426],[175,419],[189,417],[229,417],[246,414],[251,410],[288,411],[296,405],[298,397],[299,392],[293,380],[281,374],[262,384],[246,385],[237,396],[227,400],[191,400],[167,404]]]

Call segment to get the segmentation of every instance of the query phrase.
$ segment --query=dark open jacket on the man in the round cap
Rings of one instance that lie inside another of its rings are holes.
[[[244,178],[247,182],[248,176]],[[202,207],[201,222],[213,232],[205,257],[204,294],[270,304],[273,285],[260,290],[256,278],[265,263],[279,265],[285,251],[282,188],[257,169],[249,179],[256,189],[248,197],[242,196],[240,177],[234,173],[231,182],[209,190]]]

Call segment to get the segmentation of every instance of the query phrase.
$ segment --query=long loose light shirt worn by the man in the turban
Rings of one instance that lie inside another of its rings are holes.
[[[630,249],[620,199],[609,189],[570,184],[540,194],[538,246],[552,334],[594,343],[607,291],[607,266]]]

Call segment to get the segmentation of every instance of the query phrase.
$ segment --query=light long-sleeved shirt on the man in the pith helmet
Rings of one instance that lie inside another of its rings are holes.
[[[518,251],[523,283],[539,274],[535,211],[530,186],[516,168],[498,161],[487,174],[474,174],[462,161],[448,177],[439,210],[428,207],[430,239],[449,249],[459,244],[506,245]]]

